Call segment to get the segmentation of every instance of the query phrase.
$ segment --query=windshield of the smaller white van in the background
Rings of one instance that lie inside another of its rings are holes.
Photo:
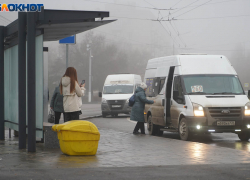
[[[105,85],[103,94],[133,94],[133,84]]]

